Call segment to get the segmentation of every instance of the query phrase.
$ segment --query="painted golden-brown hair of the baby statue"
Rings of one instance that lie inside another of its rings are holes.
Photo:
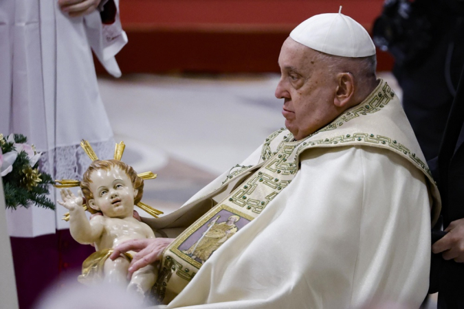
[[[93,199],[93,193],[90,190],[91,175],[96,170],[106,170],[109,171],[111,168],[118,167],[122,171],[126,172],[126,175],[131,179],[132,186],[137,190],[137,196],[134,198],[134,205],[140,202],[142,195],[144,194],[144,180],[137,176],[137,173],[132,168],[132,166],[127,165],[126,163],[119,160],[96,160],[93,161],[89,168],[84,173],[82,181],[80,182],[80,189],[82,194],[84,194],[85,200],[89,203]]]

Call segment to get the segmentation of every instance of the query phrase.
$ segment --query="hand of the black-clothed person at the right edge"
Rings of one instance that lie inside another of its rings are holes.
[[[464,218],[453,221],[445,229],[448,232],[432,245],[433,253],[443,252],[443,259],[464,262]]]

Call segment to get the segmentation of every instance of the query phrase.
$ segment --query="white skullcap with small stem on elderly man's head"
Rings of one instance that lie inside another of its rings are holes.
[[[341,13],[314,15],[296,26],[290,37],[309,48],[329,55],[367,57],[375,45],[360,23]]]

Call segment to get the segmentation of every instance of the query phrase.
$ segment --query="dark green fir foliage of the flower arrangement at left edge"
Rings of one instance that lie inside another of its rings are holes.
[[[14,143],[26,144],[27,137],[15,134]],[[3,154],[15,150],[14,143],[0,136],[0,147]],[[19,152],[12,167],[13,170],[3,176],[3,190],[5,192],[7,208],[16,209],[19,206],[27,208],[30,204],[33,204],[38,207],[55,209],[54,203],[46,196],[49,194],[49,185],[54,183],[52,176],[41,172],[37,175],[40,181],[36,178],[36,182],[30,176],[28,177],[25,174],[25,170],[30,170],[31,168],[38,169],[38,163],[30,166],[30,161],[25,151]]]

